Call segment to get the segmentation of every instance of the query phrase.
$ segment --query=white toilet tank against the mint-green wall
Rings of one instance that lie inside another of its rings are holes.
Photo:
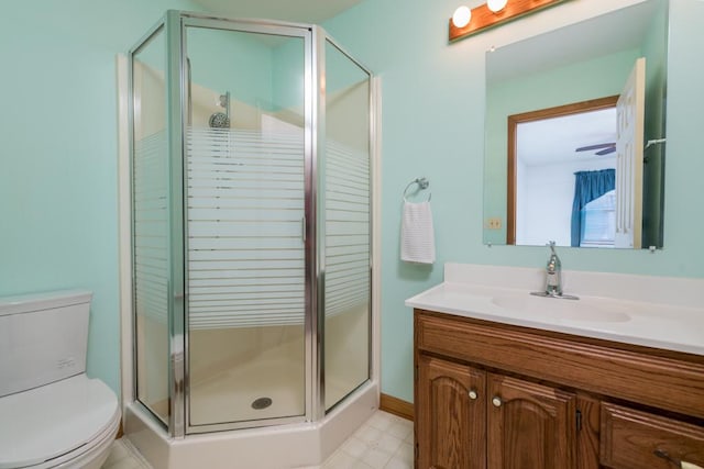
[[[89,291],[0,298],[0,398],[86,371]]]

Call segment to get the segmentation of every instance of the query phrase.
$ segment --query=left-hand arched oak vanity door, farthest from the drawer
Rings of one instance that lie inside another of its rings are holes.
[[[417,469],[486,468],[486,373],[420,355]]]

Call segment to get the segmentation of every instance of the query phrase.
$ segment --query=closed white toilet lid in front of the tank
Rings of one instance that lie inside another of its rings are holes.
[[[112,390],[86,375],[0,398],[0,469],[73,451],[110,426],[117,413]]]

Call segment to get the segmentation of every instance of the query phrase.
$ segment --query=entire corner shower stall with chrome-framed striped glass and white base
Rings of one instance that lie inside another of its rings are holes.
[[[315,25],[168,11],[130,52],[125,434],[155,467],[319,464],[377,405],[373,88]]]

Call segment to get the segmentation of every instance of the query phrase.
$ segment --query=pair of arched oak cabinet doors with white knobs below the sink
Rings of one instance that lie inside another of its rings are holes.
[[[416,398],[420,468],[573,467],[572,393],[420,356]]]

